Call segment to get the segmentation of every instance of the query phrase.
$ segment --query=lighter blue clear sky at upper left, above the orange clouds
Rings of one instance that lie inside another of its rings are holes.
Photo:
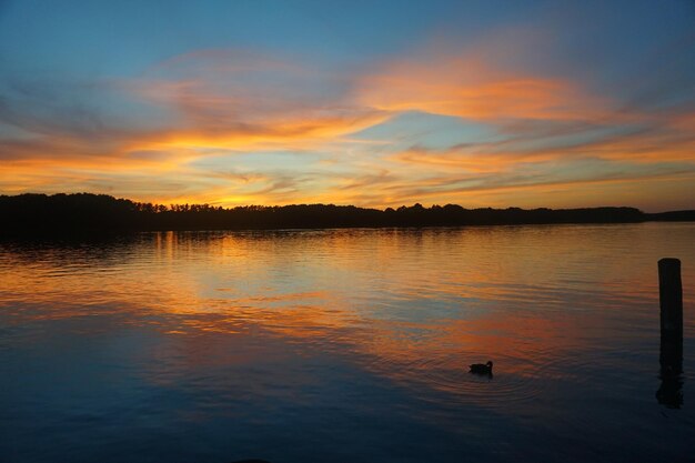
[[[469,37],[518,13],[514,3],[22,0],[4,13],[0,54],[30,72],[112,77],[216,48],[299,51],[329,62],[359,62],[407,50],[442,30]]]

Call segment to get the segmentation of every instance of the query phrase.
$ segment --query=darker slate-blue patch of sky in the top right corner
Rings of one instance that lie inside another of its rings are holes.
[[[623,0],[556,2],[536,21],[551,47],[531,62],[546,74],[581,81],[596,93],[631,100],[664,79],[695,77],[695,3]]]

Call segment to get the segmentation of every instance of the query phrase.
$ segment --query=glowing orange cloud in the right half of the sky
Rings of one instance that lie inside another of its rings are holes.
[[[383,111],[424,111],[477,121],[586,120],[606,102],[560,78],[496,67],[479,53],[394,61],[360,79],[357,101]]]

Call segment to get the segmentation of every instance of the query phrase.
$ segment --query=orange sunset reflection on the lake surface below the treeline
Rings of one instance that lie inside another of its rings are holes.
[[[494,406],[496,394],[544,393],[538,375],[566,380],[606,340],[644,334],[639,326],[657,314],[655,269],[645,262],[672,251],[655,232],[637,224],[152,233],[4,248],[0,293],[18,322],[101,316],[111,329],[152,330],[190,370],[321,353]],[[668,233],[683,243],[677,236],[691,229]],[[626,252],[633,246],[641,253]],[[621,325],[625,308],[629,330]],[[494,385],[482,389],[467,365],[487,360]],[[173,381],[153,369],[152,381]]]

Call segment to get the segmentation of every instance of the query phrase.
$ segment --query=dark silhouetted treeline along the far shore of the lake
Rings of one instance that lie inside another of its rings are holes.
[[[130,231],[280,230],[695,221],[695,210],[646,213],[635,208],[465,209],[421,204],[385,210],[295,204],[221,208],[162,205],[105,194],[0,195],[0,235]]]

